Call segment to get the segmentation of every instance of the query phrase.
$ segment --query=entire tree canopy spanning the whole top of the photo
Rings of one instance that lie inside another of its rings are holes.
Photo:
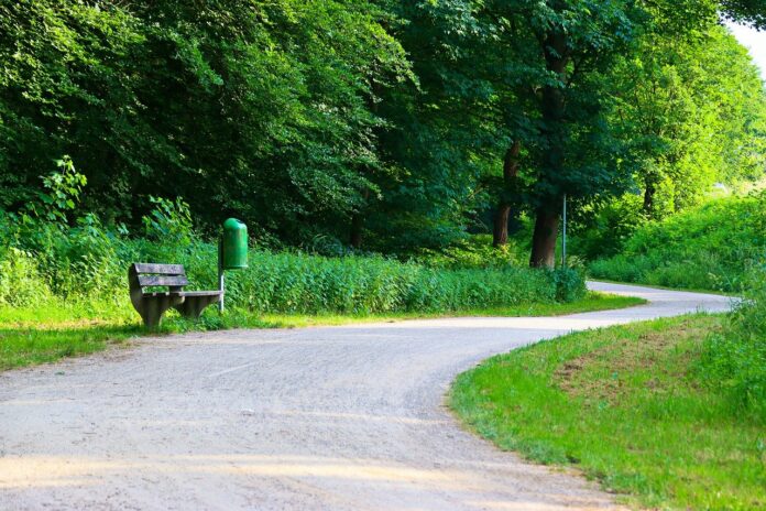
[[[641,193],[757,180],[766,99],[732,0],[20,0],[0,4],[0,208],[68,155],[86,208],[182,197],[212,228],[413,252]],[[489,213],[489,214],[488,214]]]

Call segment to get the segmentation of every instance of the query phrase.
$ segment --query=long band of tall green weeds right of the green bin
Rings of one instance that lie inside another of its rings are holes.
[[[440,312],[557,300],[555,274],[547,272],[428,269],[377,257],[256,252],[231,281],[232,303],[263,312]]]

